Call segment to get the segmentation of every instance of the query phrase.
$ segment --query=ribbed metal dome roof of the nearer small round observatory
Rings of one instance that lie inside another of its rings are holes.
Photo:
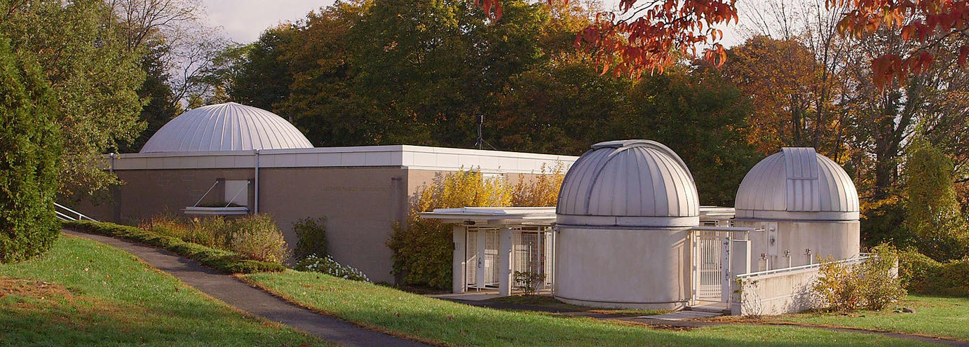
[[[700,199],[686,164],[662,143],[600,142],[565,175],[556,213],[564,225],[696,226]]]

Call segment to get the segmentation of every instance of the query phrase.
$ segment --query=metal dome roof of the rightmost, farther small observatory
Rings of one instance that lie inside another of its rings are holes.
[[[848,173],[809,147],[786,147],[743,177],[737,218],[857,220],[858,191]]]

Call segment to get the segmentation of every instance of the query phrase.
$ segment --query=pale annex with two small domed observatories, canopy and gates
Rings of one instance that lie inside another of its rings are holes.
[[[781,314],[814,307],[819,257],[866,259],[855,185],[814,148],[757,164],[735,207],[700,205],[702,194],[669,147],[600,142],[566,174],[555,207],[422,216],[453,224],[459,295],[537,287],[584,306]]]

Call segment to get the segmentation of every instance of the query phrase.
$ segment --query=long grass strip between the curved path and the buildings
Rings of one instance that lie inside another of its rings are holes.
[[[449,345],[633,346],[918,345],[857,332],[723,325],[689,331],[662,330],[585,317],[502,311],[425,298],[374,284],[315,272],[287,270],[238,275],[283,298],[374,329]]]

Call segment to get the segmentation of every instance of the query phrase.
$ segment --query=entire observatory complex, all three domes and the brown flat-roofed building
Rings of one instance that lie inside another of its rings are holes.
[[[387,239],[435,176],[477,170],[511,184],[568,169],[556,206],[422,213],[452,227],[453,293],[538,292],[595,307],[779,314],[812,307],[818,259],[863,261],[851,177],[814,148],[754,166],[735,207],[700,205],[666,145],[595,143],[580,157],[414,145],[313,147],[286,119],[234,103],[189,110],[139,153],[105,158],[124,184],[78,209],[134,224],[163,213],[327,218],[328,253],[394,282]]]

